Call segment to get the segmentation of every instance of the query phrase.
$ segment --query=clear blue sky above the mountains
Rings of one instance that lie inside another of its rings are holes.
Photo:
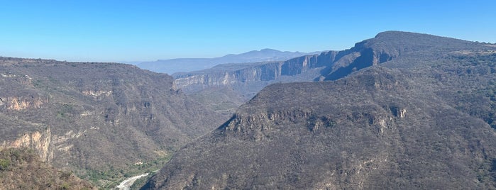
[[[496,43],[496,1],[0,1],[0,56],[84,62],[344,50],[385,30]]]

